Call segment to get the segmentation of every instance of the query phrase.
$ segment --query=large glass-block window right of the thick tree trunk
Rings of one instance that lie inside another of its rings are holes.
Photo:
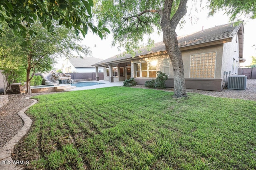
[[[190,55],[190,78],[214,78],[216,52]]]

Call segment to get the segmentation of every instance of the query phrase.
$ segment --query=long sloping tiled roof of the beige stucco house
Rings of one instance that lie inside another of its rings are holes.
[[[209,45],[216,45],[220,43],[226,43],[232,41],[232,38],[238,30],[242,28],[241,33],[239,32],[239,50],[240,50],[240,58],[242,58],[242,49],[243,49],[243,23],[240,23],[237,26],[233,26],[232,23],[228,23],[225,25],[218,25],[209,29],[204,29],[202,31],[198,31],[196,33],[192,33],[190,35],[184,35],[178,37],[178,45],[180,50],[194,49],[198,47],[206,47]],[[241,43],[240,43],[241,42]],[[150,51],[147,50],[146,47],[136,50],[136,54],[134,57],[139,57],[142,55],[148,55],[156,52],[166,51],[165,45],[163,42],[155,43],[154,47],[151,48]],[[116,55],[114,57],[110,57],[106,60],[100,61],[98,63],[93,64],[92,66],[100,66],[109,64],[111,62],[116,61],[128,61],[132,58],[132,55],[126,54],[124,57],[120,57],[121,55]]]

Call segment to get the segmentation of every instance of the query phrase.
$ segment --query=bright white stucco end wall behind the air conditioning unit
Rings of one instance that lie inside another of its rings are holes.
[[[235,58],[234,74],[232,74],[233,58]],[[236,61],[238,61],[237,68],[236,68]],[[223,78],[224,71],[228,71],[228,72],[231,71],[230,76],[238,75],[239,65],[240,65],[239,64],[239,43],[238,43],[238,37],[236,34],[231,42],[224,43],[223,45],[221,77]]]

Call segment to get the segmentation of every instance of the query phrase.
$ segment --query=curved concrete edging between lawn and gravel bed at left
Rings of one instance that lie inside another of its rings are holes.
[[[32,125],[32,119],[25,114],[25,111],[31,107],[32,105],[37,103],[37,100],[30,99],[30,97],[26,97],[26,99],[33,100],[34,102],[30,104],[28,107],[20,110],[18,115],[24,121],[23,127],[20,131],[0,149],[0,170],[20,170],[23,169],[19,167],[19,164],[15,164],[14,160],[12,160],[11,152],[14,149],[14,146],[20,141],[20,139],[28,132]],[[18,160],[19,162],[26,163],[26,160]]]

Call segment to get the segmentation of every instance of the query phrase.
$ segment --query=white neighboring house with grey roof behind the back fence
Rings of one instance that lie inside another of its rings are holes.
[[[73,57],[67,58],[63,61],[61,71],[62,72],[96,72],[96,68],[92,66],[94,63],[98,63],[103,59],[95,57]],[[98,68],[98,72],[103,72],[103,67]]]

